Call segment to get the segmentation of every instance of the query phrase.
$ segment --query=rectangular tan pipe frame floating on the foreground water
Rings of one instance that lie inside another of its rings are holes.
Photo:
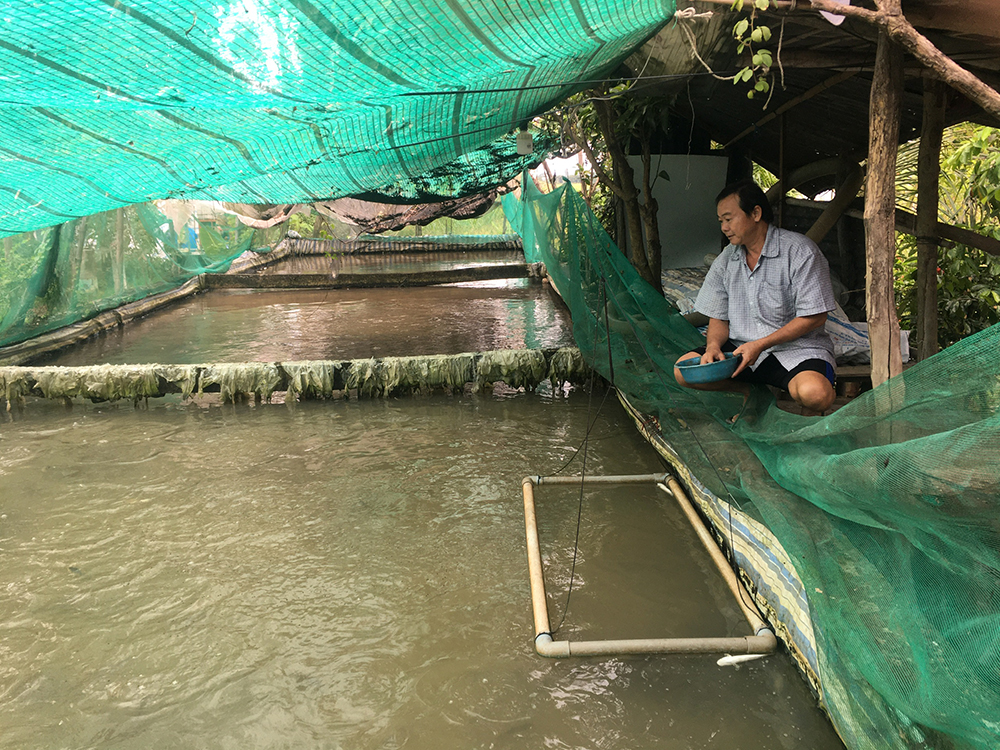
[[[688,520],[694,526],[709,556],[715,563],[729,589],[736,597],[743,615],[754,634],[737,638],[644,638],[604,641],[557,641],[549,626],[548,605],[545,598],[545,574],[538,542],[538,525],[535,520],[534,487],[541,484],[644,484],[653,483],[673,496]],[[535,626],[535,651],[540,656],[565,658],[569,656],[612,656],[619,654],[770,654],[778,640],[770,626],[747,602],[753,601],[743,588],[725,556],[715,545],[701,518],[691,505],[677,480],[669,474],[638,474],[625,476],[570,476],[525,477],[521,480],[524,494],[524,528],[528,546],[528,576],[531,582],[531,609]]]

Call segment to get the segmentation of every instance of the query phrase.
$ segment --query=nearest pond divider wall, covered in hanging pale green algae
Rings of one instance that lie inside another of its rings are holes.
[[[270,400],[283,391],[286,399],[384,398],[467,386],[477,391],[500,382],[511,388],[534,388],[544,380],[581,383],[589,376],[575,347],[303,362],[7,366],[0,367],[0,397],[8,410],[23,405],[26,396],[138,402],[170,393],[187,398],[218,392],[231,403]]]

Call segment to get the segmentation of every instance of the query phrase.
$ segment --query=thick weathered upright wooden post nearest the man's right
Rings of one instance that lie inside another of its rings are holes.
[[[900,12],[900,0],[882,0],[880,9]],[[903,370],[899,319],[893,292],[896,255],[896,155],[903,93],[903,52],[879,31],[872,78],[868,132],[868,179],[865,190],[868,340],[872,385]]]

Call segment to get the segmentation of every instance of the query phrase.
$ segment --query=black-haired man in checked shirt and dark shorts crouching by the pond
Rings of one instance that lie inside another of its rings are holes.
[[[833,390],[833,341],[823,328],[835,309],[830,268],[816,243],[771,226],[774,214],[752,180],[726,187],[716,204],[730,244],[719,254],[698,293],[695,310],[708,316],[704,347],[678,361],[703,363],[734,352],[742,361],[732,380],[680,385],[749,393],[748,383],[786,389],[802,413],[821,415]]]

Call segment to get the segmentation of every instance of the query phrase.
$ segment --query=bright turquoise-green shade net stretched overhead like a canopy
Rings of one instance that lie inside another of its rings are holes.
[[[46,0],[0,14],[0,237],[163,198],[417,203],[544,156],[514,130],[674,0]]]

